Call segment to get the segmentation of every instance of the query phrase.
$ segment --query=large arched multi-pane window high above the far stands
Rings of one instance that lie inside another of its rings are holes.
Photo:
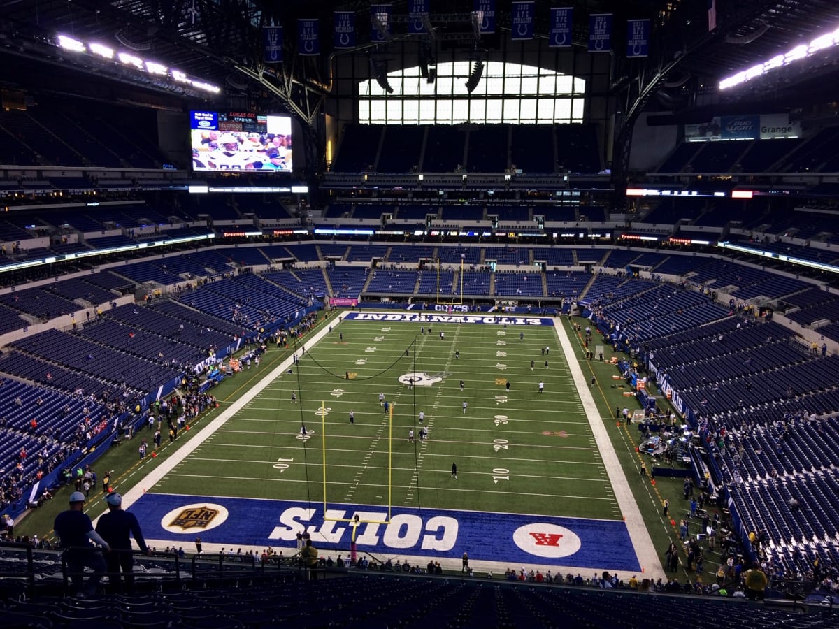
[[[358,86],[358,120],[367,124],[512,124],[583,122],[586,81],[534,65],[487,61],[469,94],[469,61],[437,65],[434,83],[420,67],[388,72],[393,93],[375,79]]]

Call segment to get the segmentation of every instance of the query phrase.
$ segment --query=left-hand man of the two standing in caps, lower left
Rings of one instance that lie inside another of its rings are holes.
[[[70,509],[60,512],[53,523],[55,533],[61,539],[61,547],[67,549],[64,556],[73,590],[82,596],[96,594],[96,588],[107,568],[102,554],[94,549],[91,541],[105,548],[106,553],[111,550],[108,543],[93,530],[93,522],[87,517],[84,507],[85,495],[81,491],[74,491],[70,494]],[[93,571],[86,583],[85,567]]]

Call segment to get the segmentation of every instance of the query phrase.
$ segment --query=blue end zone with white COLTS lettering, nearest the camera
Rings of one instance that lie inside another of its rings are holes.
[[[352,526],[332,519],[358,515],[356,542],[374,556],[470,558],[640,572],[626,523],[572,517],[456,512],[442,509],[305,504],[282,500],[146,493],[130,509],[146,538],[176,545],[200,536],[223,546],[294,546],[308,530],[317,548],[347,551]]]

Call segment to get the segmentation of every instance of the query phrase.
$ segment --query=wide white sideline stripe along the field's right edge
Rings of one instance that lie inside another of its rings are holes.
[[[561,318],[554,321],[554,328],[556,335],[559,337],[560,346],[565,353],[565,362],[571,367],[571,373],[577,386],[577,393],[582,400],[583,408],[586,411],[586,418],[591,425],[591,433],[594,434],[594,439],[597,442],[597,448],[600,450],[604,467],[606,468],[609,482],[612,484],[612,489],[615,491],[615,497],[618,501],[618,506],[626,518],[627,530],[629,532],[629,539],[632,541],[635,554],[638,555],[638,561],[644,569],[644,577],[648,579],[659,579],[666,576],[664,570],[661,568],[661,560],[659,554],[655,551],[653,540],[649,537],[647,525],[644,523],[644,517],[641,517],[641,510],[638,509],[638,503],[635,502],[632,489],[629,487],[626,475],[623,473],[621,465],[607,465],[607,461],[618,461],[618,454],[612,446],[612,440],[606,432],[606,426],[600,418],[600,411],[597,410],[597,403],[591,397],[591,391],[588,388],[586,377],[582,374],[580,362],[576,360],[574,354],[574,347],[571,346],[571,340],[565,334],[565,328],[562,325]]]

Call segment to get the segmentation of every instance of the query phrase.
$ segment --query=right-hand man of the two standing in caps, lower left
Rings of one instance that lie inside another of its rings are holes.
[[[149,553],[146,540],[143,538],[143,531],[140,530],[140,523],[137,516],[127,511],[122,511],[122,496],[116,491],[107,495],[108,512],[96,522],[96,533],[102,535],[113,549],[106,558],[108,582],[114,591],[120,591],[119,573],[122,569],[122,576],[125,578],[125,590],[128,593],[134,590],[134,565],[133,554],[131,553],[131,538],[137,542],[143,554]]]

